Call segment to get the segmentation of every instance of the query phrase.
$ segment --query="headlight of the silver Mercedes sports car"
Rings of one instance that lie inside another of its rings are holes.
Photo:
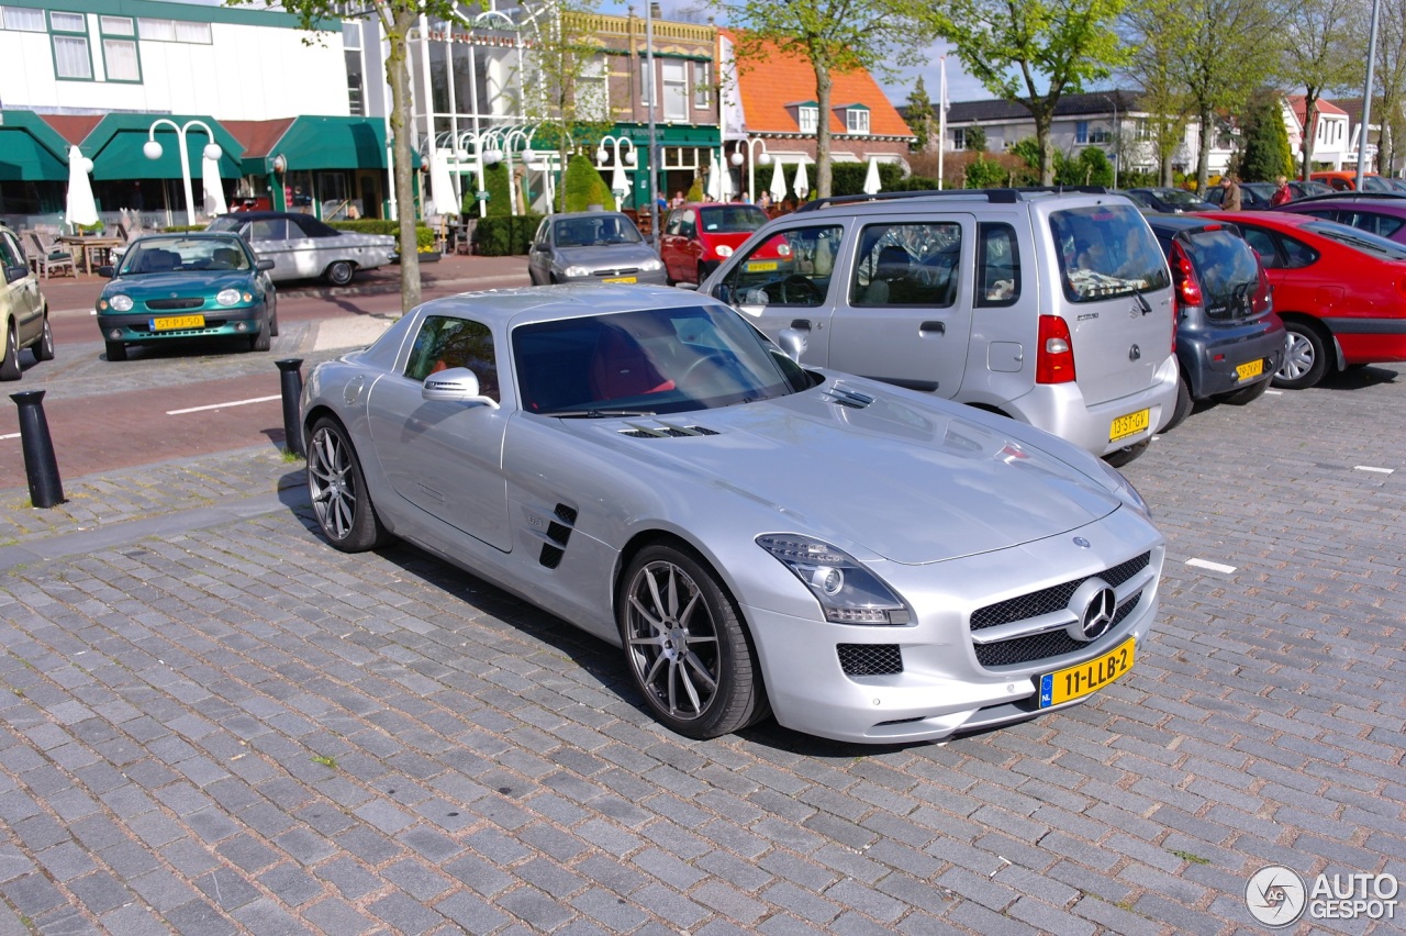
[[[834,624],[908,624],[912,616],[903,599],[879,576],[842,550],[824,540],[787,533],[756,537],[756,545],[772,554],[806,583],[820,602],[825,620]]]

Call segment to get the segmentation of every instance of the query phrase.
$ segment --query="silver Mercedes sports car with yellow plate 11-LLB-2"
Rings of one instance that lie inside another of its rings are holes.
[[[770,713],[936,739],[1126,673],[1164,542],[1123,476],[1014,420],[801,368],[799,340],[787,356],[668,288],[427,302],[309,374],[318,521],[621,646],[693,738]]]

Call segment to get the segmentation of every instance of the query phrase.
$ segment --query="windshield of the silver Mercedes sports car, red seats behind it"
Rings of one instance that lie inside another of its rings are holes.
[[[647,416],[751,403],[810,385],[731,309],[641,309],[513,330],[523,408],[541,416]]]

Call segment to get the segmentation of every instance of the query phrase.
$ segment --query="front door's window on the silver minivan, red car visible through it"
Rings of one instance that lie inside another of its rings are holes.
[[[733,267],[721,294],[741,305],[823,305],[844,233],[839,225],[779,230]]]

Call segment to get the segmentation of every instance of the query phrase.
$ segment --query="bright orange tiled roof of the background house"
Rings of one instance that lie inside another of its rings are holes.
[[[733,42],[738,41],[735,32],[728,30],[718,30],[718,32]],[[754,134],[800,132],[796,110],[787,110],[786,105],[815,100],[815,70],[807,59],[768,45],[763,58],[738,60],[737,72],[748,131]],[[848,72],[832,77],[830,132],[846,132],[842,108],[848,104],[863,104],[869,108],[870,136],[912,136],[912,131],[884,97],[879,83],[869,72]]]

